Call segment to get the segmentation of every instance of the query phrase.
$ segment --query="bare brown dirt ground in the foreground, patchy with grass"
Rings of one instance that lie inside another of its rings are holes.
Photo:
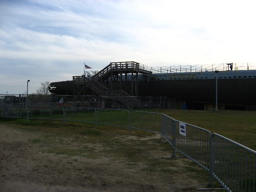
[[[207,180],[200,181],[196,173],[188,176],[179,171],[154,172],[147,170],[143,161],[128,166],[120,158],[105,156],[102,150],[97,158],[42,152],[45,146],[31,140],[43,136],[44,133],[0,124],[1,192],[178,192],[196,191],[207,185]],[[104,151],[104,145],[98,147]],[[170,151],[156,150],[152,156],[161,159],[170,156]],[[188,162],[186,158],[176,159],[173,169],[182,168]]]

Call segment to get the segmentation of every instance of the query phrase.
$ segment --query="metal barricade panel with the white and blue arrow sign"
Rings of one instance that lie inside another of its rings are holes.
[[[210,171],[211,133],[203,128],[174,121],[176,129],[175,149]]]

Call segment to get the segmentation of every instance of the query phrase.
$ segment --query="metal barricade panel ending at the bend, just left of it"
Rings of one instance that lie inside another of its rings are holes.
[[[161,134],[161,114],[130,111],[130,126],[134,129]]]

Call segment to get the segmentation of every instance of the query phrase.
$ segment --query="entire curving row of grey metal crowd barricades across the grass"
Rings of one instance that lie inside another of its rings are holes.
[[[255,192],[256,152],[219,134],[160,113],[61,106],[0,105],[0,117],[93,122],[161,134],[227,191]]]

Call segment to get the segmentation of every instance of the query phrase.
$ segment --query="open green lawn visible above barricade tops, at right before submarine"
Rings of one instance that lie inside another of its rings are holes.
[[[220,110],[146,110],[166,114],[212,133],[218,133],[256,150],[256,111]]]

